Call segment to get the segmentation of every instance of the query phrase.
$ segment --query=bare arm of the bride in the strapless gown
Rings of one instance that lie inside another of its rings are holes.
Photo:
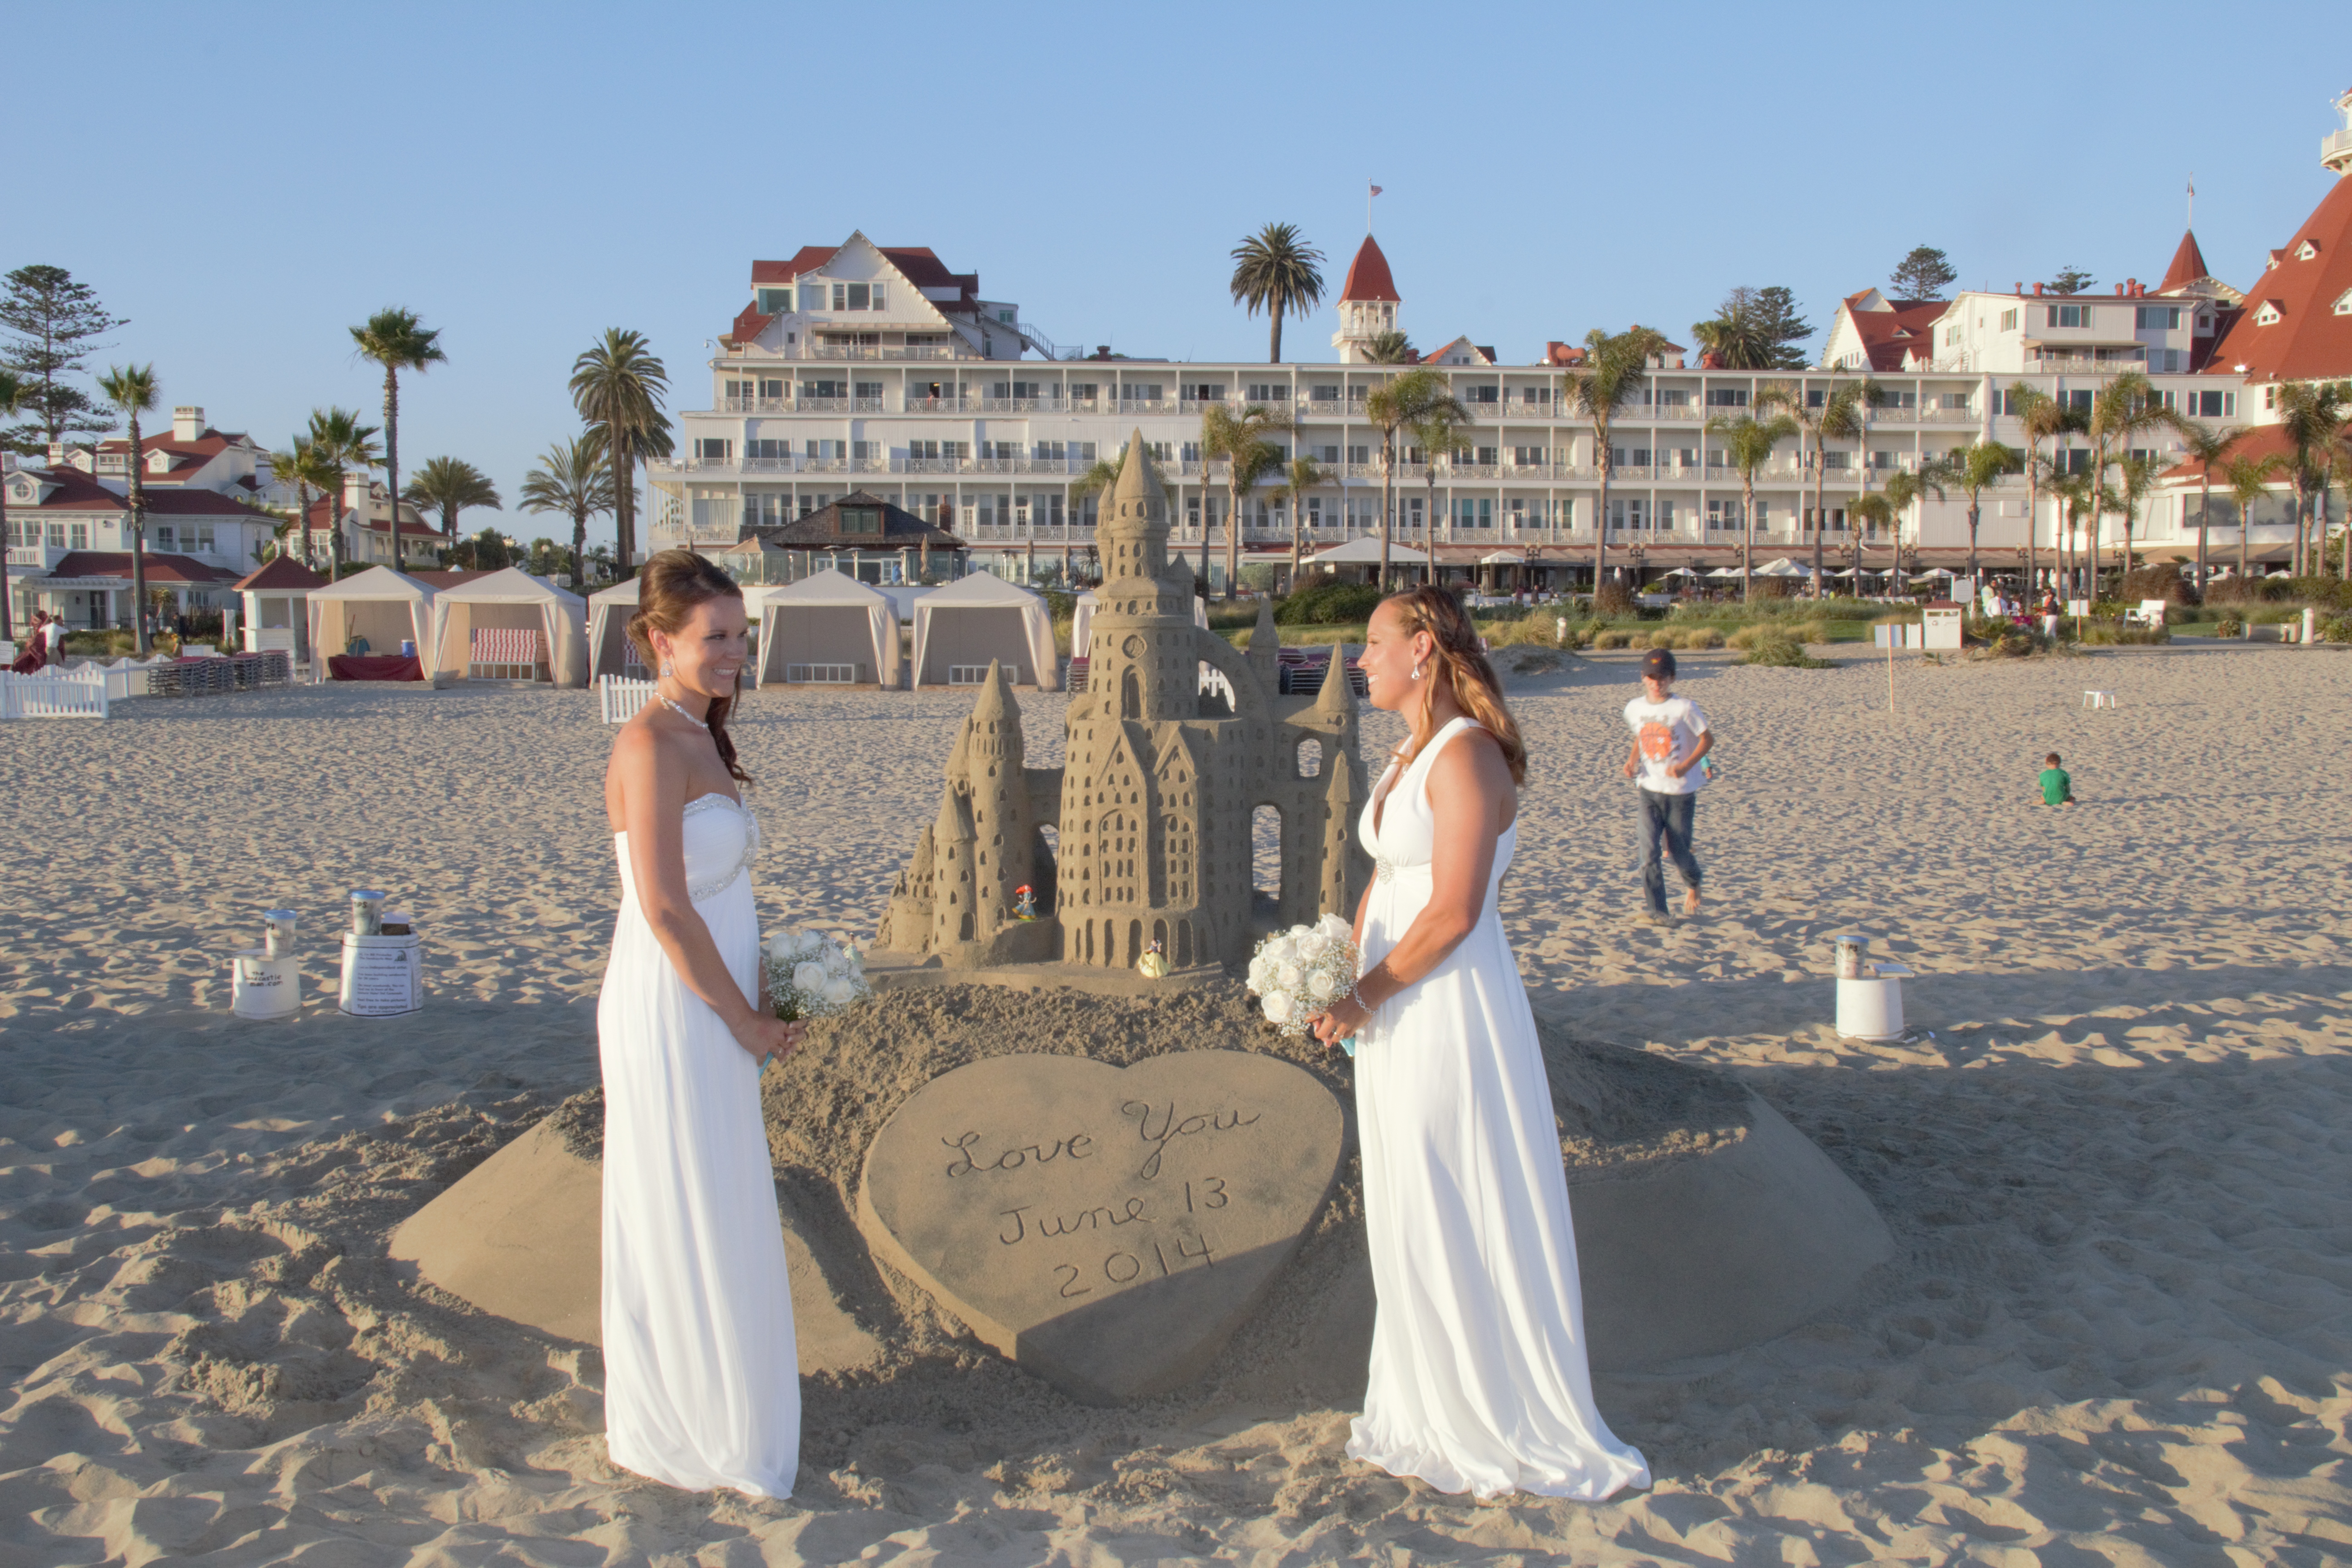
[[[677,976],[696,997],[710,1004],[720,1023],[753,1058],[786,1051],[793,1032],[774,1013],[753,1009],[743,987],[727,971],[710,926],[687,893],[687,764],[644,724],[628,724],[612,748],[612,769],[621,785],[621,823],[628,830],[628,870],[637,886],[637,907],[654,940],[670,957]]]

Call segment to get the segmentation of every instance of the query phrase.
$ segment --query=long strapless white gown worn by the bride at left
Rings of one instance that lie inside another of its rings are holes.
[[[654,938],[621,856],[621,917],[597,997],[604,1063],[604,1446],[687,1490],[788,1497],[800,1359],[760,1067]],[[687,891],[743,994],[760,997],[750,863],[760,823],[687,802]]]

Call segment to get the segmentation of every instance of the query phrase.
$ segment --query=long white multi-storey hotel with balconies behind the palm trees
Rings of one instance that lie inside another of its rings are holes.
[[[2347,110],[2352,115],[2352,110]],[[849,491],[868,491],[969,541],[971,559],[1018,578],[1035,559],[1058,574],[1070,552],[1091,576],[1094,503],[1070,494],[1096,458],[1141,428],[1171,487],[1174,545],[1202,550],[1223,574],[1225,482],[1202,463],[1200,416],[1211,404],[1268,404],[1298,421],[1287,454],[1315,458],[1329,484],[1308,496],[1310,548],[1378,531],[1378,430],[1364,400],[1395,367],[1367,362],[1369,341],[1399,324],[1402,299],[1369,237],[1338,299],[1331,362],[1167,362],[1080,357],[1056,350],[1021,308],[981,296],[978,277],[948,273],[929,249],[877,247],[851,235],[790,261],[755,261],[753,299],[710,360],[710,404],[682,411],[675,463],[649,470],[654,505],[647,548],[715,550],[748,529],[783,524]],[[1867,374],[1884,402],[1860,440],[1830,442],[1823,458],[1825,545],[1860,543],[1886,562],[1900,543],[1915,564],[1966,559],[1966,498],[1926,501],[1900,541],[1846,527],[1846,505],[1898,468],[1999,440],[2023,447],[2009,388],[2027,383],[2089,402],[2114,374],[2145,371],[2171,407],[2213,425],[2260,423],[2249,378],[2216,357],[2244,296],[2206,273],[2192,235],[2164,280],[2131,280],[2110,294],[2056,296],[2020,284],[2009,294],[1964,292],[1952,301],[1889,301],[1865,289],[1837,310],[1818,369],[1724,371],[1672,350],[1611,430],[1609,559],[1646,574],[1675,564],[1738,559],[1740,477],[1724,465],[1705,421],[1757,407],[1771,383],[1820,400]],[[1475,425],[1456,454],[1409,451],[1395,473],[1395,538],[1430,550],[1439,567],[1477,569],[1519,557],[1536,583],[1590,574],[1599,456],[1590,423],[1564,402],[1581,350],[1550,343],[1541,357],[1503,364],[1489,348],[1454,339],[1423,357],[1454,383]],[[2074,442],[2077,447],[2082,442]],[[2173,451],[2164,440],[2159,454]],[[2082,461],[2082,458],[2074,458]],[[1813,548],[1813,470],[1797,442],[1783,444],[1757,480],[1757,548]],[[1980,548],[1992,567],[2023,564],[2027,487],[2006,480],[1983,496]],[[1435,501],[1435,505],[1432,505]],[[2150,557],[2194,552],[2194,484],[2180,473],[2133,527]],[[2117,522],[2107,522],[2112,543]],[[2049,564],[2056,505],[2044,498],[2034,548]],[[2272,529],[2256,531],[2258,550]],[[2284,541],[2284,529],[2277,531]],[[1244,564],[1284,564],[1291,524],[1275,484],[1242,515]],[[2216,534],[2234,550],[2234,529]],[[2277,555],[2277,550],[2270,550]],[[891,578],[898,562],[861,562]]]

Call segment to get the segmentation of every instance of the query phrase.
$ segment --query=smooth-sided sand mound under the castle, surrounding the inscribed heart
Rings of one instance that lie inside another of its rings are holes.
[[[873,1255],[856,1222],[866,1150],[908,1095],[974,1060],[1037,1053],[1124,1067],[1204,1048],[1291,1060],[1352,1103],[1345,1058],[1270,1032],[1235,985],[1152,999],[943,985],[884,994],[811,1027],[762,1086],[802,1371],[877,1399],[906,1385],[908,1394],[927,1387],[941,1401],[969,1401],[971,1410],[938,1410],[950,1429],[1002,1408],[1000,1375],[1058,1403]],[[1545,1060],[1597,1368],[1773,1338],[1893,1253],[1870,1199],[1736,1081],[1559,1030],[1545,1032]],[[567,1100],[405,1222],[393,1258],[485,1312],[593,1342],[600,1128],[597,1093]],[[1301,1408],[1348,1406],[1362,1394],[1369,1342],[1371,1272],[1350,1128],[1329,1204],[1202,1392],[1249,1387]],[[950,1375],[978,1368],[1000,1375]]]

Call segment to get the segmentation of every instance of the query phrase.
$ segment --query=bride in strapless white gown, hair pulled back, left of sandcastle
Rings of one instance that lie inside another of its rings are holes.
[[[604,1065],[604,1443],[612,1462],[783,1497],[800,1469],[800,1356],[760,1067],[800,1025],[760,978],[760,823],[727,736],[743,592],[666,550],[628,635],[659,701],[604,771],[621,917],[597,997]]]

